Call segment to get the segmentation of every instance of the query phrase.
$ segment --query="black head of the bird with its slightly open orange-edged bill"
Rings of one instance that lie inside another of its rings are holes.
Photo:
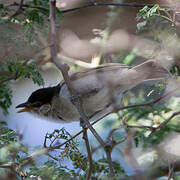
[[[51,104],[51,100],[58,90],[58,86],[38,89],[30,95],[25,103],[19,104],[16,108],[23,108],[18,112],[27,112],[39,108],[44,104]]]

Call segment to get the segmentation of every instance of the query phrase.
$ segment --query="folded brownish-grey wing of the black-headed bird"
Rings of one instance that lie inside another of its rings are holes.
[[[115,79],[124,69],[129,69],[119,63],[110,63],[98,66],[96,68],[85,69],[71,76],[72,85],[76,92],[81,95],[93,95],[98,93],[107,82],[107,79]]]

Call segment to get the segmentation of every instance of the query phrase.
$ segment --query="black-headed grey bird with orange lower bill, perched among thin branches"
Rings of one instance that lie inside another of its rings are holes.
[[[139,83],[169,77],[169,72],[155,60],[129,67],[122,64],[105,64],[85,69],[70,76],[71,84],[80,95],[82,107],[88,118],[112,106],[121,104],[123,94]],[[65,122],[78,121],[80,115],[71,101],[66,83],[34,91],[18,112],[32,112]],[[114,102],[113,102],[114,103]],[[98,118],[98,117],[97,117]]]

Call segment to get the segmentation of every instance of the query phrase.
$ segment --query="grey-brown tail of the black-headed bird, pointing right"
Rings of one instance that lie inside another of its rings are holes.
[[[160,65],[156,60],[149,60],[140,65],[133,67],[138,73],[144,76],[146,80],[156,80],[168,78],[170,76],[169,71]]]

